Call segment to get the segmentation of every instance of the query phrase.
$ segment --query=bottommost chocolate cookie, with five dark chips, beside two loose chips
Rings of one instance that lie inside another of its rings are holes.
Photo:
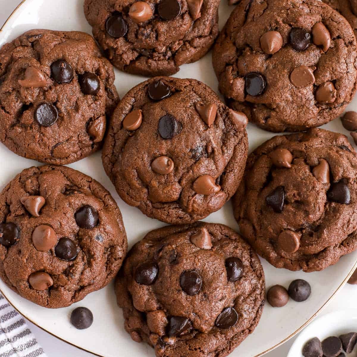
[[[125,330],[156,356],[224,357],[257,326],[265,279],[238,233],[196,222],[148,233],[129,252],[115,292]]]

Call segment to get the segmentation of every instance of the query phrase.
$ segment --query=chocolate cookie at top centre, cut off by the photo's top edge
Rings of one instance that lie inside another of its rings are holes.
[[[218,35],[220,0],[85,0],[107,58],[120,70],[168,76],[203,57]]]

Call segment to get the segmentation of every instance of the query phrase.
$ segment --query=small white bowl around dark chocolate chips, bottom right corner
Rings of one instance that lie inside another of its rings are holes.
[[[330,336],[341,336],[344,333],[357,331],[357,309],[331,312],[314,320],[300,335],[290,348],[287,357],[303,357],[302,348],[311,338],[320,341]],[[356,356],[356,348],[348,356]]]

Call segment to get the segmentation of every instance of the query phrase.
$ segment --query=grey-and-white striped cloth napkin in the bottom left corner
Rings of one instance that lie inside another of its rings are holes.
[[[22,317],[0,293],[0,357],[46,357]]]

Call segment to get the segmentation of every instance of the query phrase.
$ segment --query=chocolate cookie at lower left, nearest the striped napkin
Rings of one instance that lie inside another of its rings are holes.
[[[69,306],[106,286],[127,250],[121,213],[91,177],[31,167],[0,194],[0,276],[22,297]]]

